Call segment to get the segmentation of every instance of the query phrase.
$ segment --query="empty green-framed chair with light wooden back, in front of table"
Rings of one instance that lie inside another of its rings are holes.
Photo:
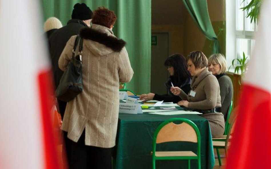
[[[173,122],[182,121],[181,124]],[[197,154],[192,151],[156,151],[156,144],[171,141],[196,142]],[[158,126],[154,133],[152,149],[152,168],[155,169],[156,160],[198,160],[198,169],[201,168],[200,162],[200,131],[192,121],[184,118],[173,118],[164,121]]]

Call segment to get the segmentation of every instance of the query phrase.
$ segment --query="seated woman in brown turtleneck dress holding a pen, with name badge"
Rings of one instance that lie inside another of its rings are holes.
[[[202,113],[209,121],[212,137],[220,137],[225,130],[221,113],[220,89],[215,76],[208,71],[208,59],[201,51],[191,52],[186,58],[188,71],[193,76],[188,95],[179,87],[171,87],[171,92],[182,98],[178,105]]]

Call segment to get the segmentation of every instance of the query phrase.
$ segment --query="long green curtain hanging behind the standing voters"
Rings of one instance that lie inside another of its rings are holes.
[[[133,79],[126,88],[137,94],[150,92],[151,0],[42,0],[44,21],[58,18],[63,26],[71,19],[75,3],[85,3],[92,11],[104,6],[117,15],[113,32],[127,42]]]

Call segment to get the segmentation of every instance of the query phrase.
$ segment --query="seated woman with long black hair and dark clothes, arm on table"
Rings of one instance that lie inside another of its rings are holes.
[[[182,56],[181,54],[173,54],[166,59],[164,65],[167,67],[167,70],[170,73],[170,77],[165,83],[165,86],[168,90],[167,94],[142,94],[140,96],[140,100],[164,100],[164,102],[178,103],[178,101],[182,99],[179,96],[175,96],[171,93],[170,87],[172,86],[172,84],[174,86],[180,87],[186,94],[188,94],[191,89],[190,83],[192,78],[187,70],[186,59],[184,58],[184,56]]]

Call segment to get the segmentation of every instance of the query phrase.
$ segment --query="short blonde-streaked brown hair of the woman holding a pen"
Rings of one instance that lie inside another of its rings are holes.
[[[205,56],[205,54],[201,51],[193,51],[191,52],[187,58],[186,62],[188,60],[191,60],[192,63],[195,65],[196,69],[206,68],[208,66],[208,59]]]

